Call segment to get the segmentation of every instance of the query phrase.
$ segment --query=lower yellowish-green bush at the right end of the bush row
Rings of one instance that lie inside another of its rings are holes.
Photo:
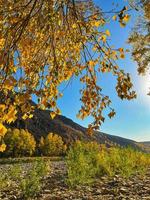
[[[100,164],[100,173],[113,176],[120,174],[123,177],[129,177],[135,173],[146,171],[150,164],[148,154],[139,152],[130,147],[116,148],[108,150],[102,149],[98,155]]]

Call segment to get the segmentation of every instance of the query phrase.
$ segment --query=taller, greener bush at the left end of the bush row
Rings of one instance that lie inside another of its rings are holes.
[[[98,173],[97,143],[82,143],[77,141],[68,151],[66,157],[68,179],[67,183],[73,187],[76,184],[88,184]]]

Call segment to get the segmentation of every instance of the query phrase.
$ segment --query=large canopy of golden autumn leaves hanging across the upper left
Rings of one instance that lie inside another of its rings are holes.
[[[111,14],[112,20],[125,26],[128,8]],[[114,15],[114,16],[113,16]],[[0,150],[4,151],[5,123],[33,116],[29,100],[35,95],[38,107],[51,109],[51,117],[60,114],[58,98],[62,83],[80,76],[81,109],[78,117],[93,117],[89,132],[104,122],[103,110],[115,111],[102,92],[99,75],[116,78],[121,99],[136,97],[129,74],[117,64],[125,57],[122,47],[109,45],[111,20],[93,1],[74,0],[0,0]]]

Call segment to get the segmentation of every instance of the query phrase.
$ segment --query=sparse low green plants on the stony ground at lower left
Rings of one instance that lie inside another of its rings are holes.
[[[17,186],[21,199],[29,199],[40,192],[42,179],[49,172],[50,162],[42,158],[31,162],[27,169],[20,163],[10,165],[9,171],[0,172],[0,191]]]

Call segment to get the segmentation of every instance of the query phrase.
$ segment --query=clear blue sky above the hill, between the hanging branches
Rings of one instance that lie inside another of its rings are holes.
[[[114,0],[114,2],[119,3],[119,8],[123,8],[126,4],[124,0]],[[112,8],[112,0],[95,0],[95,3],[99,6],[101,5],[105,11]],[[109,25],[112,36],[111,42],[116,47],[128,47],[125,43],[134,20],[132,17],[131,22],[125,28],[121,28],[116,22]],[[150,86],[148,76],[138,76],[136,63],[133,62],[130,53],[128,53],[125,60],[119,61],[119,65],[131,74],[138,97],[133,101],[120,100],[115,91],[115,79],[109,74],[99,77],[105,94],[110,96],[113,102],[112,107],[117,112],[113,119],[106,118],[100,131],[137,141],[150,141],[150,96],[146,95]],[[58,104],[62,110],[62,115],[87,127],[91,121],[90,118],[83,121],[76,118],[76,114],[81,106],[79,89],[80,83],[74,79],[65,89],[64,97],[59,100]]]

